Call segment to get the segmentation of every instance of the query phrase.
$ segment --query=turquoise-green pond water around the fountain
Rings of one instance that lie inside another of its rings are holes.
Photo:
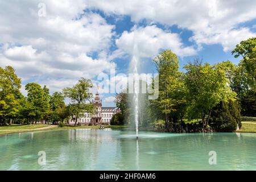
[[[46,152],[46,164],[38,152]],[[217,164],[209,164],[216,151]],[[0,135],[1,170],[256,170],[256,134],[61,130]]]

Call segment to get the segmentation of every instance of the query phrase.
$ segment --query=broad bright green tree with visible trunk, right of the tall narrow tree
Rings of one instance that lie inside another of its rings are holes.
[[[236,94],[230,88],[230,82],[226,71],[229,69],[225,63],[218,63],[211,66],[202,64],[200,60],[189,63],[184,67],[185,85],[187,86],[188,117],[200,117],[203,122],[203,129],[206,129],[213,107],[221,101],[235,100]],[[207,121],[205,116],[208,115]]]

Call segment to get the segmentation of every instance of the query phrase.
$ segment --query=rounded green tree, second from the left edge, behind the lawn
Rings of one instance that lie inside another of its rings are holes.
[[[28,83],[25,88],[27,90],[27,101],[30,103],[28,110],[31,113],[29,115],[34,116],[30,119],[36,121],[43,119],[49,111],[48,89],[46,86],[42,88],[36,83]]]

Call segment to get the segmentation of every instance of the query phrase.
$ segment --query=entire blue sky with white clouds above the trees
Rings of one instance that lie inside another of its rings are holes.
[[[254,0],[3,0],[0,67],[15,68],[26,95],[28,82],[51,93],[81,77],[96,93],[102,73],[108,86],[123,82],[135,46],[141,73],[155,73],[152,59],[166,49],[179,56],[181,71],[196,58],[237,64],[231,51],[256,36],[255,7]],[[114,106],[114,96],[102,93],[103,105]]]

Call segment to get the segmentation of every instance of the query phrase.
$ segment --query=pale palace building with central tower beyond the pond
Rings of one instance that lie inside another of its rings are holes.
[[[97,124],[97,123],[108,123],[115,113],[118,113],[119,110],[116,107],[102,107],[102,101],[98,92],[92,100],[92,104],[95,106],[94,113],[84,113],[81,118],[77,120],[77,123],[81,124]],[[75,123],[76,118],[69,119],[69,123]]]

